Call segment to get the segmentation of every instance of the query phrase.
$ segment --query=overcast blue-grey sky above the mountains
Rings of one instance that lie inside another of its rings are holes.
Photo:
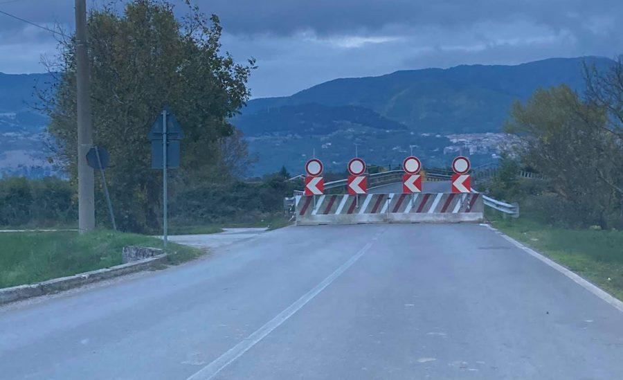
[[[87,0],[89,8],[108,1]],[[181,1],[173,0],[180,4]],[[224,50],[255,57],[253,97],[343,77],[458,64],[623,53],[623,0],[195,0],[219,15]],[[73,30],[73,0],[0,0],[0,10]],[[0,71],[44,71],[53,35],[0,14]]]

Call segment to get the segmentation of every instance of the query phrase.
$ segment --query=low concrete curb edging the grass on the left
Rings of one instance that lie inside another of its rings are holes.
[[[17,287],[3,288],[0,289],[0,305],[17,300],[25,300],[26,298],[58,293],[60,291],[80,287],[84,284],[107,280],[109,278],[118,277],[128,273],[145,271],[147,269],[152,269],[156,266],[166,264],[166,262],[167,254],[163,253],[145,260],[111,266],[110,268],[97,269],[96,271],[78,273],[67,277],[53,278],[52,280],[46,280],[37,284],[26,284],[18,285]]]

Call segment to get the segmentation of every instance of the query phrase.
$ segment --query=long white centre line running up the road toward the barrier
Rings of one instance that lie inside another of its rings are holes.
[[[376,236],[378,237],[378,235]],[[206,365],[204,368],[201,368],[199,372],[193,374],[188,377],[188,380],[208,380],[215,377],[219,372],[221,372],[224,368],[226,368],[229,364],[231,364],[236,359],[240,358],[242,354],[249,351],[251,347],[260,342],[263,338],[265,338],[268,334],[270,334],[274,329],[279,327],[282,323],[284,323],[288,318],[294,315],[296,311],[300,310],[303,306],[307,305],[307,302],[314,299],[314,297],[318,296],[318,293],[323,291],[326,287],[328,287],[336,278],[338,278],[342,273],[344,273],[347,269],[352,266],[359,257],[363,256],[363,254],[370,249],[372,246],[372,242],[368,242],[365,244],[363,248],[359,250],[359,252],[355,253],[350,259],[347,260],[344,264],[342,264],[338,269],[336,269],[333,273],[331,273],[327,278],[325,278],[320,284],[316,285],[314,289],[311,289],[305,295],[292,305],[287,307],[284,311],[277,314],[277,316],[268,323],[260,327],[258,330],[253,332],[253,334],[249,335],[242,342],[238,343],[230,350],[219,356],[215,361]]]

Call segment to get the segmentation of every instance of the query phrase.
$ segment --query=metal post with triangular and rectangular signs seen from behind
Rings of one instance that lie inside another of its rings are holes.
[[[168,179],[167,170],[179,168],[179,141],[184,133],[177,119],[165,107],[152,125],[149,133],[152,141],[152,169],[162,169],[162,224],[163,244],[168,243]]]

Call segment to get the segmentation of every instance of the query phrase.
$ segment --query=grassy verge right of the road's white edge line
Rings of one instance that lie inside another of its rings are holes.
[[[623,300],[623,231],[554,228],[522,218],[492,225]]]

